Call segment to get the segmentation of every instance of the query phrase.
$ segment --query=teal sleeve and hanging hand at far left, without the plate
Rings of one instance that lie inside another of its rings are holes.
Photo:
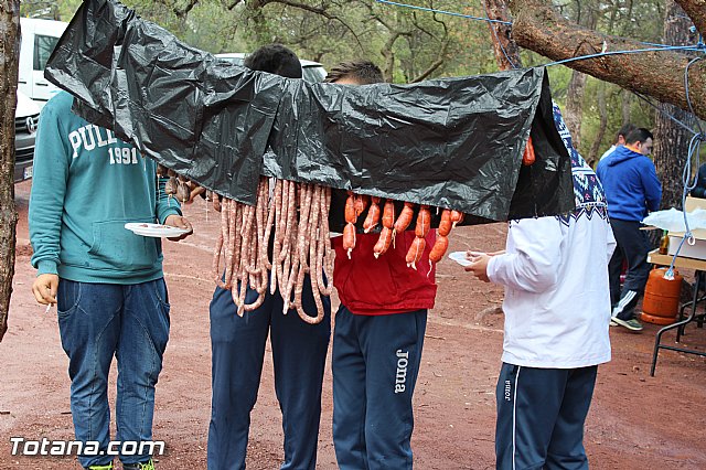
[[[36,300],[45,305],[56,302],[62,214],[71,161],[56,113],[54,107],[47,106],[40,116],[29,211],[30,242],[34,252],[31,263],[38,269],[32,291]]]

